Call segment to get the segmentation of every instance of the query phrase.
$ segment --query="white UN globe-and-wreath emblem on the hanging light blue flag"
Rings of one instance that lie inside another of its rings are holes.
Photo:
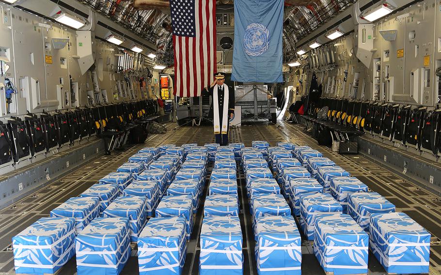
[[[260,56],[268,50],[269,31],[258,23],[251,23],[247,26],[243,36],[243,46],[245,53],[249,56]]]

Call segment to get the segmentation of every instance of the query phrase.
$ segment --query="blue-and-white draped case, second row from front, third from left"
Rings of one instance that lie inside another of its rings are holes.
[[[190,196],[165,196],[156,209],[157,217],[184,217],[186,237],[190,238],[193,230],[193,200]]]

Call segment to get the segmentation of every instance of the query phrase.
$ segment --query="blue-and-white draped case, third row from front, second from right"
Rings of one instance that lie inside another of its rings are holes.
[[[289,202],[294,214],[300,216],[300,196],[323,191],[323,186],[313,178],[297,178],[289,181]]]

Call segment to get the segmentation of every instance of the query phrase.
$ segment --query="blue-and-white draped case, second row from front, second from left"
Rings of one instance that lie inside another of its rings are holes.
[[[119,197],[104,210],[103,217],[129,219],[130,241],[136,242],[146,222],[145,197]]]

